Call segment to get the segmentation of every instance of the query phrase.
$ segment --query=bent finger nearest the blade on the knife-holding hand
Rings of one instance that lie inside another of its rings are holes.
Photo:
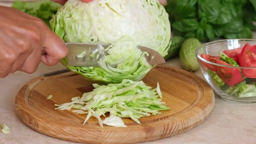
[[[41,57],[41,62],[49,66],[56,65],[68,52],[63,40],[48,27],[45,30],[43,47],[46,55]]]

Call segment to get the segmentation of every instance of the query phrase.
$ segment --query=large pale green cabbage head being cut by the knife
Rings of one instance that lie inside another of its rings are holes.
[[[68,0],[50,25],[66,42],[112,44],[107,56],[99,59],[100,67],[72,66],[62,59],[72,72],[92,81],[139,81],[155,65],[148,64],[137,46],[166,56],[171,45],[168,14],[158,0]]]

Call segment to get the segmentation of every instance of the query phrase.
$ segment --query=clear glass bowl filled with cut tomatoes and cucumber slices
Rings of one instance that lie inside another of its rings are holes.
[[[218,95],[232,101],[256,102],[256,40],[211,42],[199,47],[196,54],[203,75]]]

